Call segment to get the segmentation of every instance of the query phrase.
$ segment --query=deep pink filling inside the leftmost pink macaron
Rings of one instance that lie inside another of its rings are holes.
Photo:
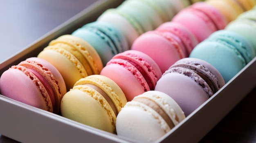
[[[42,76],[40,75],[36,70],[33,69],[29,69],[34,75],[36,75],[36,77],[41,81],[41,83],[43,84],[43,86],[45,87],[46,91],[48,92],[50,99],[52,101],[52,107],[54,108],[55,106],[55,96],[54,96],[54,92],[52,90],[51,85],[49,84],[49,82]]]

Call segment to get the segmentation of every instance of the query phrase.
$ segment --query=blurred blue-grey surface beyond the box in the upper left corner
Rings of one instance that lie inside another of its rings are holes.
[[[0,0],[0,62],[97,0]]]

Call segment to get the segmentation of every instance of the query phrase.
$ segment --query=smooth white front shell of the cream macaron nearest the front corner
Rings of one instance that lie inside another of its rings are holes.
[[[137,105],[128,102],[126,106],[129,108],[123,108],[117,115],[116,128],[118,136],[125,136],[140,142],[153,142],[168,132],[168,130],[164,130],[161,127],[167,128],[168,125],[155,110],[143,106],[144,104],[142,103],[136,103]],[[138,124],[138,121],[141,122]],[[162,125],[159,124],[160,121]]]

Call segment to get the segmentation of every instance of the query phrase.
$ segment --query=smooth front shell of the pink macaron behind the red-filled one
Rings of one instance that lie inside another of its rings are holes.
[[[132,44],[131,49],[141,51],[151,57],[157,63],[162,73],[177,60],[181,59],[173,43],[165,37],[152,32],[139,36]]]

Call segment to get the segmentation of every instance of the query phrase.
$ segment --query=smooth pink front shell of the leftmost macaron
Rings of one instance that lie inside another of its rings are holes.
[[[43,97],[40,91],[42,89],[46,92],[39,79],[27,69],[22,68],[24,67],[16,66],[16,68],[9,68],[2,73],[0,78],[1,95],[43,110],[53,111],[50,97]],[[31,80],[30,77],[34,79]],[[36,86],[36,82],[38,86]]]

